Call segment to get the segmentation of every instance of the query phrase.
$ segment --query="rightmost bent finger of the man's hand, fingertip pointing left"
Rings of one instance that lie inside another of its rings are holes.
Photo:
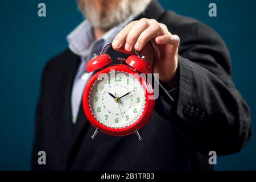
[[[178,47],[180,44],[180,38],[177,35],[162,35],[155,38],[155,42],[158,44],[166,45],[171,44],[174,47]]]

